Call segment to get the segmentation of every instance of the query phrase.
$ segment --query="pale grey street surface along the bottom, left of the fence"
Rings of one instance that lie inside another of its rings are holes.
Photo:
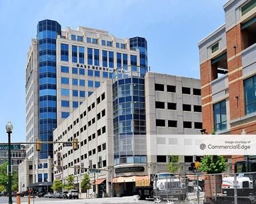
[[[107,204],[107,203],[153,203],[152,201],[137,201],[136,196],[131,197],[106,197],[99,199],[45,199],[45,198],[31,198],[31,204],[46,204],[46,203],[61,203],[61,204],[70,204],[70,203],[99,203],[99,204]],[[8,197],[0,197],[0,203],[8,203]],[[13,197],[13,203],[16,203],[16,197]],[[21,203],[27,203],[27,197],[21,197]]]

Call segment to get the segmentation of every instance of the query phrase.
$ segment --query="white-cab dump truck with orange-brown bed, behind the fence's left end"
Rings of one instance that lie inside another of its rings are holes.
[[[154,198],[163,201],[170,197],[179,200],[185,200],[187,197],[185,184],[173,173],[151,174],[136,181],[135,187],[139,199]]]

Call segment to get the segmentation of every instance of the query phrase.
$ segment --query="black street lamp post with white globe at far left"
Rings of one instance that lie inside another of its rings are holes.
[[[5,128],[8,134],[8,196],[9,204],[12,204],[13,201],[11,199],[11,133],[13,131],[13,125],[11,124],[11,121],[7,123]]]

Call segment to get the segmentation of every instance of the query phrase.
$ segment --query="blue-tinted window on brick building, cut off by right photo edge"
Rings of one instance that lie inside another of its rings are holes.
[[[256,112],[256,76],[243,81],[245,92],[245,114]]]

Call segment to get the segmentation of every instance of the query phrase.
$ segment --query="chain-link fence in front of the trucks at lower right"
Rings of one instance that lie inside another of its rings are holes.
[[[167,178],[155,203],[256,204],[256,173],[220,173]]]

